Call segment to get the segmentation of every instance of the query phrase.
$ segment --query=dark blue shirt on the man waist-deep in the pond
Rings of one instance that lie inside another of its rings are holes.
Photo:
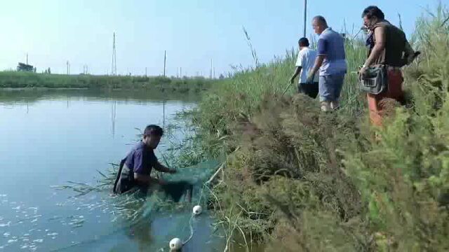
[[[157,162],[154,151],[140,141],[126,156],[125,164],[136,174],[149,175]]]

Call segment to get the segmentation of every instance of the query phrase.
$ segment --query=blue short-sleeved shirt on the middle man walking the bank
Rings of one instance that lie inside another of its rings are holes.
[[[333,29],[326,29],[318,39],[318,55],[326,56],[320,76],[340,75],[347,72],[344,38]]]

